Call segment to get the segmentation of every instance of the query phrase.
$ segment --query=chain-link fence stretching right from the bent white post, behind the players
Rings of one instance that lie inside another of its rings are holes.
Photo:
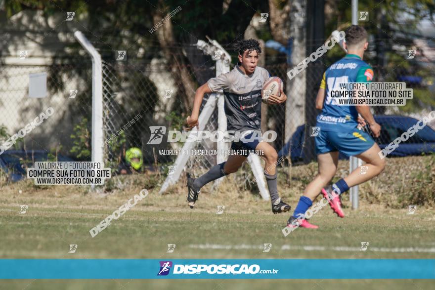
[[[320,73],[316,75],[308,74],[306,76],[306,83],[304,83],[305,94],[309,94],[317,91],[321,76],[323,72],[327,69],[324,64],[313,65],[314,69]],[[287,85],[302,85],[301,80],[294,79],[290,84],[287,78],[288,65],[286,63],[270,64],[265,65],[265,68],[269,71],[270,75],[280,77],[284,83],[285,87]],[[116,71],[117,70],[117,71]],[[129,123],[129,120],[136,116],[138,113],[143,112],[144,117],[137,124],[131,126],[131,129],[125,130],[127,134],[127,147],[136,146],[142,149],[144,152],[145,163],[151,165],[153,163],[166,163],[170,165],[174,162],[176,156],[160,155],[159,150],[162,149],[174,149],[180,148],[180,144],[169,144],[165,140],[156,146],[147,145],[150,139],[150,126],[162,125],[169,129],[181,130],[182,123],[185,117],[190,114],[190,109],[180,112],[178,106],[180,102],[176,99],[177,96],[176,86],[174,82],[171,84],[165,83],[170,80],[170,76],[165,74],[168,72],[168,67],[146,65],[143,70],[132,64],[120,64],[120,62],[113,65],[108,63],[104,64],[104,95],[105,95],[105,128],[106,136],[117,135],[117,130],[122,128],[125,124]],[[379,66],[374,66],[375,79],[374,81],[388,80],[388,81],[399,81],[404,75],[392,75],[385,69]],[[299,83],[298,83],[299,82]],[[431,91],[428,87],[423,84],[419,86],[411,85],[414,88],[420,89],[423,94],[430,94]],[[419,88],[418,88],[419,87]],[[291,93],[291,90],[290,90]],[[305,94],[301,98],[305,98]],[[194,92],[191,93],[193,99]],[[315,98],[315,95],[314,95]],[[174,100],[175,99],[175,100]],[[312,99],[312,96],[311,96]],[[203,104],[205,104],[207,97],[205,98]],[[418,100],[417,100],[418,101]],[[286,119],[286,106],[265,106],[265,110],[262,111],[262,130],[273,130],[277,133],[277,139],[272,143],[272,146],[280,151],[286,146],[286,143],[290,140],[289,137],[286,138],[286,126],[291,125],[290,138],[296,139],[293,144],[294,148],[300,147],[301,151],[298,154],[303,154],[302,147],[304,146],[304,136],[300,134],[301,126],[306,123],[306,114],[309,114],[309,119],[315,118],[319,111],[315,110],[313,104],[305,104],[302,102],[302,106],[290,107],[288,116]],[[311,108],[306,108],[306,106],[311,106]],[[406,110],[399,110],[397,107],[375,107],[375,113],[381,114],[395,114],[400,116],[412,115],[414,117],[422,116],[426,110],[417,110],[417,113],[410,114]],[[415,112],[416,110],[414,110]],[[176,112],[172,116],[172,112]],[[429,111],[428,111],[429,112]],[[395,118],[395,117],[394,117]],[[174,120],[176,119],[176,120]],[[397,119],[397,118],[396,118]],[[392,122],[396,119],[391,119]],[[397,119],[398,120],[398,119]],[[217,129],[217,112],[213,114],[210,119],[209,124],[206,127],[207,130],[214,131]],[[396,136],[396,134],[394,135]],[[299,138],[299,139],[298,139]],[[387,139],[393,140],[392,137],[385,137]],[[384,139],[385,139],[384,138]],[[382,139],[382,143],[387,141]],[[196,149],[216,149],[216,143],[213,142],[202,142],[196,145]],[[109,150],[110,152],[110,150]],[[291,151],[285,151],[290,154]],[[119,151],[118,151],[119,154]],[[292,158],[292,161],[302,161],[302,156],[299,158]],[[156,162],[157,161],[157,162]],[[216,157],[212,156],[194,156],[190,159],[188,163],[189,168],[193,169],[204,169],[209,168],[216,164]]]

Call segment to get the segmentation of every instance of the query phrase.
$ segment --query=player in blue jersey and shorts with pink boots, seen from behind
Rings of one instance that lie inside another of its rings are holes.
[[[340,194],[348,191],[349,187],[375,177],[385,167],[385,159],[381,159],[378,155],[381,150],[379,146],[369,134],[357,128],[358,123],[365,125],[367,122],[373,135],[379,137],[381,126],[373,119],[370,107],[339,106],[331,97],[331,90],[340,89],[340,83],[371,82],[373,79],[372,68],[362,60],[368,46],[365,29],[351,25],[346,30],[345,41],[344,46],[348,54],[326,70],[317,92],[316,109],[322,110],[317,116],[316,124],[320,131],[315,137],[319,173],[306,187],[304,195],[288,220],[289,227],[318,228],[304,219],[304,214],[320,192],[328,200],[334,212],[344,217]],[[365,121],[358,118],[358,113]],[[360,168],[357,168],[332,186],[325,187],[337,171],[339,151],[346,156],[356,156],[366,162],[367,172],[360,174]]]

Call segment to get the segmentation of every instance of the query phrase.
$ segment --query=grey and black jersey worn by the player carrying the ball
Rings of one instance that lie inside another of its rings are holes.
[[[223,90],[227,130],[261,130],[261,88],[269,77],[261,67],[245,75],[237,64],[229,73],[207,82],[212,92]]]

